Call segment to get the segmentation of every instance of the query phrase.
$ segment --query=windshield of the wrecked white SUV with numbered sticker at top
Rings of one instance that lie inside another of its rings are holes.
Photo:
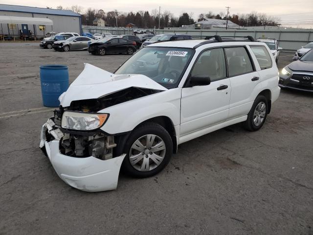
[[[178,86],[194,50],[176,47],[144,47],[115,74],[143,74],[167,89]]]

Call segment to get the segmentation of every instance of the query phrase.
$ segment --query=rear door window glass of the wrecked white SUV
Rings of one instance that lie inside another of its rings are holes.
[[[253,71],[253,67],[245,47],[225,48],[229,76],[236,76]]]

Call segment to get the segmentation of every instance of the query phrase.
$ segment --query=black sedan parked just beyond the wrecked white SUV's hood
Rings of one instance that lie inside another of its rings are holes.
[[[105,55],[111,53],[127,53],[132,55],[136,51],[136,43],[125,38],[103,38],[90,43],[89,53]]]

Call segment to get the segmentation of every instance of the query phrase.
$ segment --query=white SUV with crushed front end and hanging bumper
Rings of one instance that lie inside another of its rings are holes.
[[[243,122],[259,130],[278,98],[268,46],[246,39],[162,42],[114,73],[86,64],[43,125],[40,147],[68,185],[115,189],[120,167],[161,171],[178,145]]]

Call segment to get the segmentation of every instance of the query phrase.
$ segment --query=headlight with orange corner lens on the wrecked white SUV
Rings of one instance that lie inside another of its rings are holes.
[[[62,116],[62,128],[89,131],[101,127],[109,114],[90,114],[65,111]]]

